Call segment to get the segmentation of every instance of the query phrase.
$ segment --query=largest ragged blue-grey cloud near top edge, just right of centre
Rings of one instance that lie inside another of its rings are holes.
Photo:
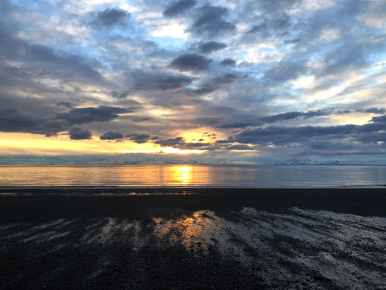
[[[196,17],[191,30],[197,35],[216,35],[220,32],[233,31],[236,26],[223,19],[227,14],[228,10],[225,7],[205,4],[199,8],[199,15]]]

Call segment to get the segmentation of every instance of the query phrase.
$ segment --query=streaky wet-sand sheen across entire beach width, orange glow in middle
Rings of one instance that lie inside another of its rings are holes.
[[[96,251],[93,262],[98,265],[90,270],[89,278],[103,278],[105,271],[111,271],[107,269],[117,259],[110,255],[114,247],[121,249],[119,259],[126,264],[141,259],[136,253],[181,248],[183,260],[215,255],[224,263],[239,263],[261,283],[283,289],[346,289],[347,285],[385,289],[385,237],[385,218],[297,208],[269,213],[245,207],[221,216],[202,210],[170,219],[106,217],[87,224],[61,219],[0,226],[1,244],[50,245],[37,259],[60,255],[68,247],[83,251],[88,245],[87,249]],[[65,271],[65,267],[70,264],[54,271]],[[150,267],[136,264],[135,271]]]

